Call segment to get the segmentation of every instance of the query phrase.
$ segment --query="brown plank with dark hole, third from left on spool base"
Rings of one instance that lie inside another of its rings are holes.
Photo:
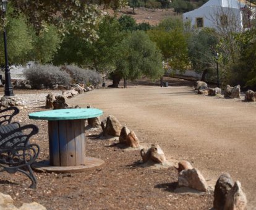
[[[66,132],[67,132],[67,162],[68,166],[77,166],[76,163],[76,151],[75,151],[75,128],[74,120],[67,120]]]

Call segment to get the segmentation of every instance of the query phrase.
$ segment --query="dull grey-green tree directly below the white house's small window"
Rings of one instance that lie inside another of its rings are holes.
[[[197,73],[203,70],[216,68],[214,52],[216,51],[217,38],[211,30],[195,31],[189,38],[189,59]]]

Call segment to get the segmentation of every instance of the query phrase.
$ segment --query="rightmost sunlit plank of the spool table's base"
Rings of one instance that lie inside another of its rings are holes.
[[[75,151],[77,166],[84,164],[84,159],[82,157],[82,140],[81,140],[81,125],[80,120],[73,120],[75,128]]]

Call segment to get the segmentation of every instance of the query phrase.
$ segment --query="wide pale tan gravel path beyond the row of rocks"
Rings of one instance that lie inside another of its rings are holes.
[[[168,88],[153,83],[106,88],[69,104],[115,115],[143,143],[158,143],[169,160],[192,162],[210,185],[228,172],[242,183],[249,209],[256,209],[256,103],[198,95],[192,84],[169,79]]]

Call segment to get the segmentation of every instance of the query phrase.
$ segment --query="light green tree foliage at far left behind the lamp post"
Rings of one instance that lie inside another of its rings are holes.
[[[61,43],[58,31],[53,26],[36,35],[35,30],[27,25],[24,15],[19,18],[11,16],[12,7],[7,13],[7,49],[10,64],[25,64],[28,61],[50,62]],[[0,34],[0,63],[4,64],[4,42]]]

